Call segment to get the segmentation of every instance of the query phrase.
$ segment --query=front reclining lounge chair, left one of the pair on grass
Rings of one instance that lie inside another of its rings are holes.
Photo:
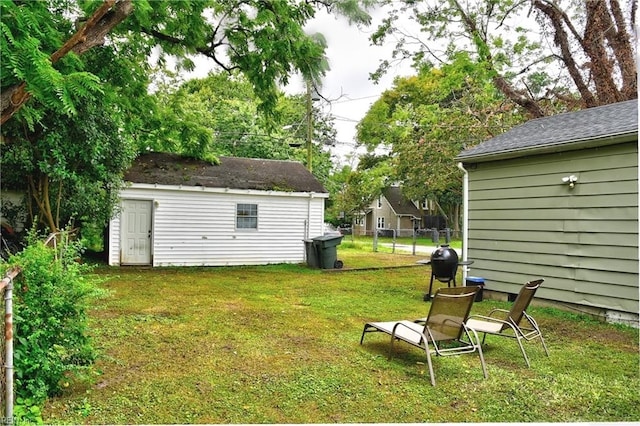
[[[465,325],[477,291],[477,287],[443,287],[436,292],[424,324],[407,320],[366,323],[360,344],[366,333],[382,332],[391,336],[389,359],[393,356],[393,344],[396,340],[423,349],[427,354],[429,377],[433,386],[436,385],[436,381],[431,363],[432,353],[447,356],[478,351],[482,373],[486,379],[487,368],[480,340],[478,335]]]

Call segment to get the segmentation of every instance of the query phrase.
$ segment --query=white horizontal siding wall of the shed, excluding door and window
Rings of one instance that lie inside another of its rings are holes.
[[[154,201],[153,266],[305,261],[304,239],[322,235],[327,194],[134,185],[121,199]],[[236,204],[258,205],[258,230],[236,230]],[[308,228],[307,228],[307,224]],[[111,221],[109,263],[120,263],[120,218]]]

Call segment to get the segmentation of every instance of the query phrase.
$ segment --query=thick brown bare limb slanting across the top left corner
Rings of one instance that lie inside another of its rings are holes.
[[[133,12],[133,0],[104,0],[86,23],[67,42],[51,55],[51,63],[55,63],[69,52],[82,55],[89,49],[104,44],[105,36],[127,16]],[[0,124],[4,124],[31,98],[26,90],[26,82],[20,82],[5,89],[0,95],[2,116]]]

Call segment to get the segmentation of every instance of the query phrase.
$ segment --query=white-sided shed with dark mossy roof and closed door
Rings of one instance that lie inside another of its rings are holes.
[[[298,162],[140,156],[109,227],[110,265],[224,266],[305,261],[329,194]]]

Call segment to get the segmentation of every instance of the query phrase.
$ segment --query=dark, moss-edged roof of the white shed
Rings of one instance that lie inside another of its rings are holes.
[[[220,164],[177,154],[149,153],[139,156],[124,180],[159,185],[262,191],[326,193],[322,184],[296,161],[220,157]]]

